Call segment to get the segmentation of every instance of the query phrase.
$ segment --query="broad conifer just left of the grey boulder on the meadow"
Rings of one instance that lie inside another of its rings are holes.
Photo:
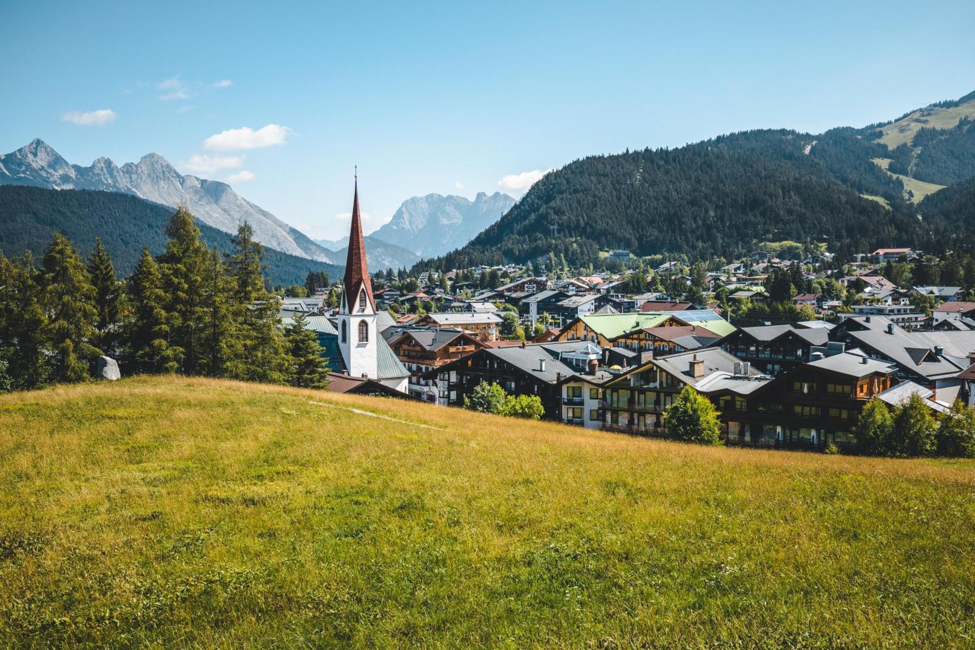
[[[53,378],[81,382],[100,350],[92,345],[98,309],[95,287],[67,237],[56,232],[44,254],[44,336],[53,352]]]

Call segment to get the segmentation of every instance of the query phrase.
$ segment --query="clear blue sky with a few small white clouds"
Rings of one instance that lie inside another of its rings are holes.
[[[973,34],[971,0],[0,0],[0,151],[154,151],[337,238],[353,165],[369,231],[409,196],[520,195],[589,154],[954,99],[975,90]]]

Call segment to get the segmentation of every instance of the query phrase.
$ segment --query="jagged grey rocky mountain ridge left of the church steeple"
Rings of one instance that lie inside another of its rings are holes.
[[[337,263],[331,251],[238,196],[227,183],[181,175],[157,153],[121,167],[108,158],[98,158],[91,166],[81,167],[69,164],[46,142],[35,139],[17,151],[0,155],[0,184],[122,192],[172,208],[182,203],[202,223],[224,232],[236,232],[240,223],[248,222],[254,228],[254,238],[265,246],[289,255]]]

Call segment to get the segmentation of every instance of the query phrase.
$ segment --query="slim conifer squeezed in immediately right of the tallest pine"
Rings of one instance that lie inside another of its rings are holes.
[[[223,377],[231,356],[233,314],[230,308],[230,277],[216,247],[210,251],[203,272],[203,323],[200,332],[200,372]]]

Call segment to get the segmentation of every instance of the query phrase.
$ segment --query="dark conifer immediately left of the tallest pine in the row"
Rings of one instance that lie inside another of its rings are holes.
[[[136,270],[129,276],[131,313],[125,325],[127,359],[141,373],[174,373],[183,350],[170,344],[170,318],[159,264],[142,249]]]

